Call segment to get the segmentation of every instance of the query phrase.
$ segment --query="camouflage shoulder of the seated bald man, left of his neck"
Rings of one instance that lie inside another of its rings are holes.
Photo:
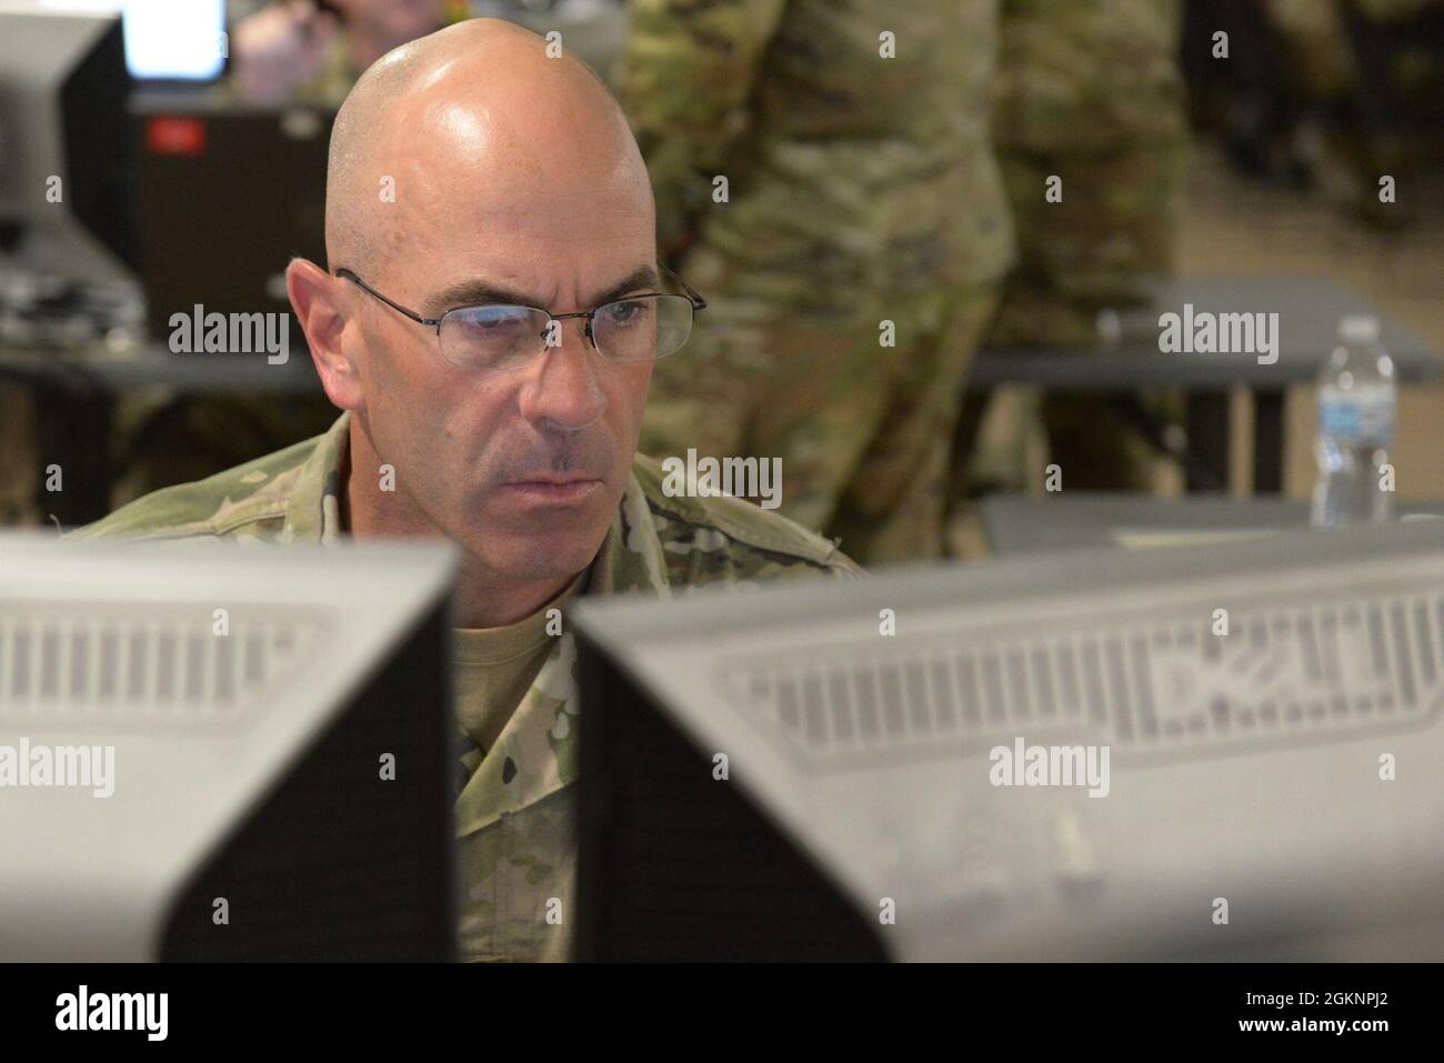
[[[206,480],[153,491],[65,539],[192,539],[279,532],[292,481],[313,439],[267,454]]]

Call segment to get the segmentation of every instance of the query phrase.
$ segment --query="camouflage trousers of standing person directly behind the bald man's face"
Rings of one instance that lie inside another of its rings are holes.
[[[799,300],[770,298],[755,274],[739,292],[747,269],[706,246],[689,256],[708,309],[657,363],[640,449],[780,458],[783,514],[858,562],[939,556],[953,430],[996,287]]]

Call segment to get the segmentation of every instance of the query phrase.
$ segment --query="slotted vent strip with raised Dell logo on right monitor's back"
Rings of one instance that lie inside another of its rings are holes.
[[[732,659],[728,698],[806,761],[1087,731],[1118,752],[1354,737],[1440,709],[1444,595],[1213,609],[1180,622],[1044,621],[970,641],[879,637]],[[1005,630],[1006,631],[1006,630]]]

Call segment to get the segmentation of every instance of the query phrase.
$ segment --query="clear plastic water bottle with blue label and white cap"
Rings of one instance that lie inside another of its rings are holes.
[[[1369,315],[1349,315],[1339,322],[1339,338],[1343,344],[1318,374],[1314,527],[1367,524],[1393,516],[1393,482],[1392,477],[1383,482],[1382,468],[1393,446],[1399,402],[1393,360],[1379,345],[1379,322]]]

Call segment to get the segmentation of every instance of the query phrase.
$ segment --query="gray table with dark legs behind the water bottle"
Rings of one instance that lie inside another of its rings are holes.
[[[1149,287],[1151,303],[1119,312],[1116,345],[982,351],[969,387],[1187,391],[1190,448],[1220,485],[1227,484],[1229,474],[1227,393],[1246,387],[1255,402],[1253,490],[1276,493],[1284,480],[1284,393],[1291,386],[1313,384],[1324,358],[1339,345],[1340,318],[1378,318],[1379,339],[1393,358],[1401,384],[1431,383],[1441,376],[1440,360],[1417,332],[1327,277],[1178,277]],[[1158,318],[1181,315],[1184,303],[1191,303],[1196,313],[1278,313],[1278,361],[1262,365],[1253,354],[1164,354],[1158,350]]]

